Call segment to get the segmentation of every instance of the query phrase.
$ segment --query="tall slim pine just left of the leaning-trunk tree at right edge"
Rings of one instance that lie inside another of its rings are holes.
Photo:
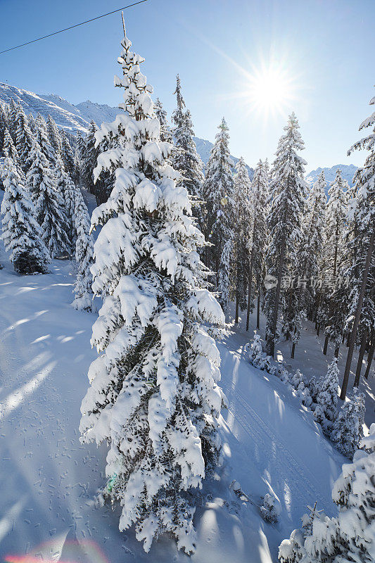
[[[335,354],[338,355],[343,323],[345,321],[345,310],[338,286],[338,274],[341,270],[344,248],[344,229],[346,214],[348,210],[348,182],[343,179],[341,170],[336,171],[336,177],[328,191],[329,200],[326,205],[326,237],[324,253],[326,255],[325,281],[329,281],[329,318],[326,326],[326,338],[324,340],[323,353],[327,353],[329,340],[335,344]]]

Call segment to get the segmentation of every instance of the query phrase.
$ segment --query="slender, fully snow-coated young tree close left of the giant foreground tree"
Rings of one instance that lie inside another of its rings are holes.
[[[77,279],[73,289],[75,298],[72,305],[77,310],[96,312],[90,272],[90,267],[94,262],[94,241],[90,234],[89,212],[80,191],[77,191],[75,198],[74,230],[76,233]]]

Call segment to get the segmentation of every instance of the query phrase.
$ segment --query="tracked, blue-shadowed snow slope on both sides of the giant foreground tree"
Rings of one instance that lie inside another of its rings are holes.
[[[55,260],[51,274],[20,277],[2,246],[0,263],[0,557],[187,563],[169,538],[146,555],[132,530],[118,531],[117,510],[93,506],[106,448],[81,445],[77,429],[96,357],[89,344],[95,315],[70,306],[70,264]],[[220,343],[229,400],[221,428],[224,465],[206,483],[196,512],[192,563],[276,562],[277,546],[300,526],[306,505],[317,501],[327,514],[335,510],[331,486],[345,458],[281,381],[248,364],[246,339],[239,331]],[[234,479],[248,502],[229,489]],[[257,506],[269,492],[281,505],[274,526]]]

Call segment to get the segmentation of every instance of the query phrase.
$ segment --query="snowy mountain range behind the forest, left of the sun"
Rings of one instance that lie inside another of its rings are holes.
[[[120,111],[118,108],[107,106],[106,103],[95,103],[90,100],[77,103],[77,106],[75,106],[56,94],[34,94],[34,92],[23,88],[0,82],[0,103],[9,103],[12,98],[16,102],[22,103],[27,114],[37,115],[37,113],[41,113],[44,119],[51,115],[59,127],[68,129],[72,133],[86,131],[91,120],[94,120],[96,125],[113,121]],[[212,143],[199,137],[194,137],[194,141],[203,163],[206,164],[213,146]],[[234,164],[239,160],[236,156],[231,156],[231,159]],[[252,178],[253,168],[248,167],[248,171]]]

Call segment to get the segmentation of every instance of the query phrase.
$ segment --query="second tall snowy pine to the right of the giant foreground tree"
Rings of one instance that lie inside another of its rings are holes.
[[[205,181],[203,183],[203,200],[205,201],[205,238],[214,246],[205,248],[205,265],[216,272],[216,287],[219,286],[220,264],[224,266],[222,258],[224,244],[230,243],[232,238],[233,219],[233,177],[229,155],[229,129],[224,118],[220,123],[219,132],[215,136],[215,144],[211,148],[208,159]],[[228,267],[228,265],[227,265]],[[222,268],[223,270],[223,268]],[[224,279],[224,272],[222,272]],[[220,288],[223,289],[222,287]]]

